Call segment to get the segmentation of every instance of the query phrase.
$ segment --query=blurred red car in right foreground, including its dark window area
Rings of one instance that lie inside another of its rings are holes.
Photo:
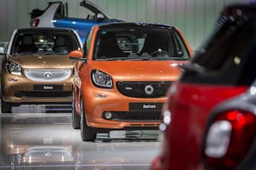
[[[223,104],[231,103],[236,98],[245,100],[245,93],[251,89],[256,78],[249,60],[255,52],[252,45],[255,39],[251,38],[256,30],[255,21],[250,18],[250,14],[255,16],[255,11],[255,5],[232,5],[225,8],[212,36],[203,43],[193,61],[183,66],[183,75],[169,91],[167,110],[171,114],[171,123],[164,130],[162,151],[152,162],[151,170],[234,169],[239,165],[240,162],[232,164],[234,162],[230,163],[229,160],[222,162],[224,156],[218,158],[222,159],[219,165],[208,165],[214,164],[215,160],[206,160],[206,136],[212,113],[216,114],[215,111],[222,109]],[[229,108],[234,107],[247,110],[243,102],[229,104]],[[229,110],[225,108],[221,111]],[[230,136],[234,133],[232,129]],[[228,141],[228,147],[234,139]],[[240,147],[238,144],[236,146]],[[229,152],[228,149],[225,154]],[[228,164],[229,168],[224,167]]]

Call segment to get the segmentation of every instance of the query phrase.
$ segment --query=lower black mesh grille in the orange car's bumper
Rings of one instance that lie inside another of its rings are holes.
[[[124,122],[160,122],[160,111],[111,112],[110,120]],[[104,117],[104,116],[103,116]]]

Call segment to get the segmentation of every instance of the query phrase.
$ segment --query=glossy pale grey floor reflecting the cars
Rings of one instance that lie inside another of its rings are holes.
[[[28,112],[28,114],[17,114]],[[98,134],[82,142],[71,114],[15,107],[0,114],[0,169],[148,169],[159,152],[158,131]]]

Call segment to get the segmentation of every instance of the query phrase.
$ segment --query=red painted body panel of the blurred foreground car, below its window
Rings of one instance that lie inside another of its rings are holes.
[[[177,92],[170,95],[172,123],[166,131],[165,143],[170,146],[163,149],[164,167],[201,169],[203,133],[210,111],[216,104],[239,95],[246,89],[245,86],[218,87],[178,82]]]

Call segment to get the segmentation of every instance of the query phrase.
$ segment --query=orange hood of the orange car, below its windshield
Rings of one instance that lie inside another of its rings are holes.
[[[91,69],[108,73],[115,81],[176,81],[186,61],[95,61]]]

